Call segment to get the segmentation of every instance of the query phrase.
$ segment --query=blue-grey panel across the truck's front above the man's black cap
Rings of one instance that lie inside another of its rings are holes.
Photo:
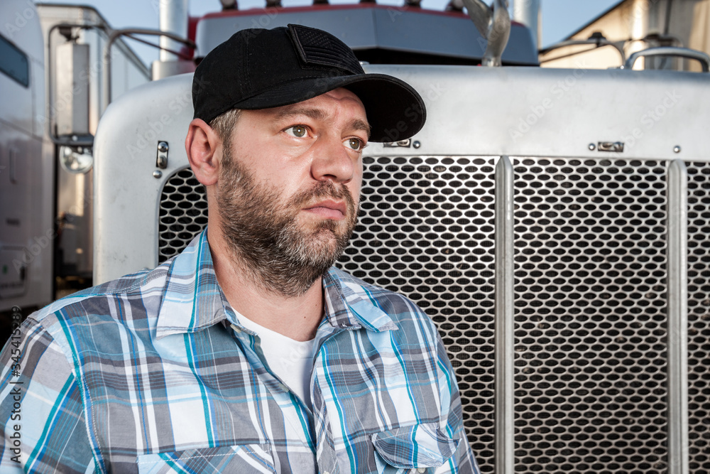
[[[385,48],[480,59],[486,47],[486,41],[466,14],[356,4],[331,6],[323,10],[254,9],[235,15],[208,16],[197,24],[196,54],[206,55],[236,31],[245,28],[271,29],[288,23],[328,31],[354,50]],[[537,53],[527,28],[513,26],[508,44],[511,47],[503,53],[503,61],[537,64]]]

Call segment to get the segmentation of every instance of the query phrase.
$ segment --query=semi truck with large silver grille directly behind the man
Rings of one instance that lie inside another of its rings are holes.
[[[165,17],[194,58],[163,58],[159,75],[189,71],[239,29],[298,23],[424,98],[422,131],[365,149],[338,265],[437,323],[482,472],[710,470],[706,55],[621,50],[621,68],[540,68],[530,28],[498,0],[222,1],[201,18],[177,3]],[[704,72],[651,70],[644,59],[661,54]],[[94,283],[165,262],[207,223],[183,147],[191,83],[135,87],[99,122]]]

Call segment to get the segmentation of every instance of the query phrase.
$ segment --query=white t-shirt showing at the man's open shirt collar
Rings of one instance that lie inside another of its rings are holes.
[[[310,377],[313,372],[315,339],[293,340],[254,323],[246,316],[239,314],[237,317],[241,325],[256,333],[261,339],[261,352],[266,357],[271,372],[297,394],[306,406],[311,406]],[[232,325],[232,328],[236,329],[236,326]]]

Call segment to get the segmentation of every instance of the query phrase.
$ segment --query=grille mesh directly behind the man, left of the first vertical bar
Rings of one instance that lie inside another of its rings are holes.
[[[459,381],[466,433],[484,472],[490,472],[486,468],[495,452],[493,159],[366,156],[363,161],[359,224],[338,265],[412,298],[437,323]],[[204,189],[189,168],[168,178],[159,219],[162,262],[180,252],[207,221]]]

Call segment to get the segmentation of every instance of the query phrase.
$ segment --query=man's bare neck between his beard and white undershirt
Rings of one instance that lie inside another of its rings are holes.
[[[323,317],[321,277],[305,292],[286,296],[254,278],[253,272],[219,235],[218,226],[207,227],[207,240],[217,281],[234,311],[294,340],[310,340],[315,336]]]

